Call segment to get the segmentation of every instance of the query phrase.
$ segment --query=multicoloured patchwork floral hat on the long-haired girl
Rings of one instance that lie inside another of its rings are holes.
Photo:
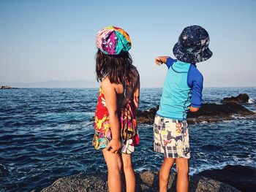
[[[106,55],[119,55],[132,47],[129,34],[122,28],[109,26],[97,33],[96,45]]]

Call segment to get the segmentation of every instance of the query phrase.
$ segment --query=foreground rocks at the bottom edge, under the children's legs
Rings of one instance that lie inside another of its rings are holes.
[[[236,192],[256,191],[256,169],[251,166],[225,166],[223,169],[208,170],[189,177],[189,191]],[[169,178],[168,191],[176,191],[176,173]],[[41,192],[103,192],[108,191],[107,174],[75,174],[62,177]],[[158,191],[158,172],[136,173],[136,191]],[[33,192],[36,192],[35,190]]]

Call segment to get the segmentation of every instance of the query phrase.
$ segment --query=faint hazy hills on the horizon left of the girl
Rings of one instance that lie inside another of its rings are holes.
[[[61,81],[49,80],[43,82],[0,82],[0,85],[10,85],[12,88],[98,88],[96,80]]]

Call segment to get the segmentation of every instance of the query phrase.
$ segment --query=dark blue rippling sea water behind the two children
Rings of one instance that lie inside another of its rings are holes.
[[[161,88],[143,88],[140,110],[159,104]],[[106,172],[94,150],[93,116],[98,89],[22,88],[0,90],[0,191],[40,190],[59,177],[80,172]],[[205,88],[203,101],[247,93],[256,111],[256,88]],[[226,164],[256,166],[256,120],[189,126],[190,173]],[[139,124],[140,145],[133,155],[135,171],[158,170],[162,155],[154,153],[152,126]]]

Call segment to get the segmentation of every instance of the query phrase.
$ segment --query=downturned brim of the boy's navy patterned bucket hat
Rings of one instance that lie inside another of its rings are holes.
[[[201,51],[200,53],[189,53],[187,51],[181,50],[178,43],[173,47],[173,54],[178,58],[179,61],[183,61],[190,64],[200,63],[206,61],[212,56],[212,52],[209,48]]]

